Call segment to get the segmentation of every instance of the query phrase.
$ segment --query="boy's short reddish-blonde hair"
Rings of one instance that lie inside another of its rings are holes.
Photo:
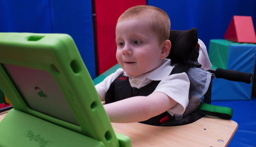
[[[158,35],[160,43],[169,39],[171,22],[164,10],[149,5],[137,5],[127,9],[118,18],[117,23],[131,18],[144,20],[150,24],[152,31]]]

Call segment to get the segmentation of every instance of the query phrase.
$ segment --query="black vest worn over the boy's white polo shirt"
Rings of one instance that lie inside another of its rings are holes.
[[[134,96],[148,96],[153,93],[160,81],[152,81],[148,85],[138,89],[132,88],[129,82],[129,77],[119,75],[110,85],[105,97],[106,104],[111,102],[120,101],[126,98]],[[141,121],[139,123],[149,124],[149,125],[161,125],[160,120],[168,116],[170,120],[175,120],[175,116],[171,116],[167,111],[152,117],[148,120]]]

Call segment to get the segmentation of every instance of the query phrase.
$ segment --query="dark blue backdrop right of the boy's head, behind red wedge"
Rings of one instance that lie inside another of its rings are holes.
[[[233,15],[252,16],[256,28],[256,0],[148,0],[166,11],[171,30],[198,28],[198,37],[209,48],[210,39],[223,39]]]

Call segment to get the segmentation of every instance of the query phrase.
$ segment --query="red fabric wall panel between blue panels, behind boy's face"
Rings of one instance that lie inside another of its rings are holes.
[[[115,58],[115,26],[119,16],[135,5],[146,5],[146,0],[95,0],[98,71],[102,74],[117,61]]]

